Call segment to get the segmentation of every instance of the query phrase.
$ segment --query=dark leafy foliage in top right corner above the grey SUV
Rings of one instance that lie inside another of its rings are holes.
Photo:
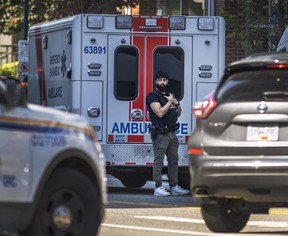
[[[241,45],[246,56],[275,51],[287,22],[288,0],[226,0],[227,39]]]

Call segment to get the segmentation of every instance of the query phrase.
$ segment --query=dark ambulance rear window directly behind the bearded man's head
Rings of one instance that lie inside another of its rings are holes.
[[[177,100],[184,96],[184,51],[177,46],[157,47],[153,54],[153,78],[158,71],[169,75],[169,91]],[[153,84],[153,86],[155,86]]]

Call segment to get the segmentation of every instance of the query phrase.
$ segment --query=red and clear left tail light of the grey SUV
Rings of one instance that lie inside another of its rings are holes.
[[[217,102],[210,96],[207,100],[193,104],[193,114],[198,119],[207,118],[217,106]]]

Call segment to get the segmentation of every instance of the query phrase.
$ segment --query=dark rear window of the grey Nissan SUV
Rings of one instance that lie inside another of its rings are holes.
[[[288,100],[287,70],[245,71],[231,75],[216,92],[216,101]]]

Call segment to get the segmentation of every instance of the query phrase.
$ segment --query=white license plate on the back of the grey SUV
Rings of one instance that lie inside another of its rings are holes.
[[[247,141],[278,141],[278,126],[248,126]]]

